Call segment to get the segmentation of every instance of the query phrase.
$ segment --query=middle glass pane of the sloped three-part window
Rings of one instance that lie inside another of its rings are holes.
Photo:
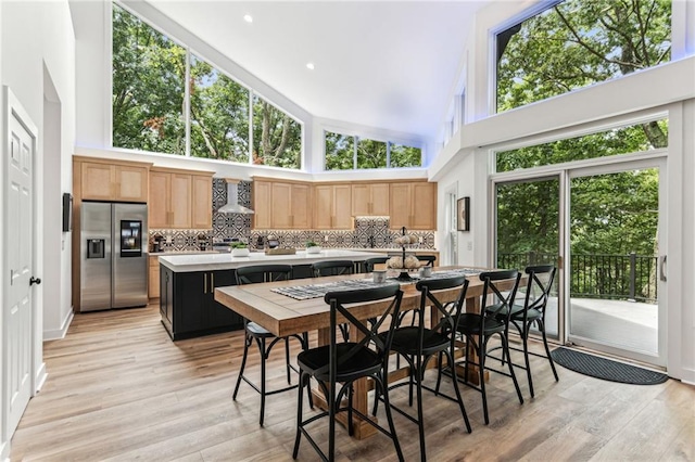
[[[249,90],[191,54],[191,155],[249,163]]]

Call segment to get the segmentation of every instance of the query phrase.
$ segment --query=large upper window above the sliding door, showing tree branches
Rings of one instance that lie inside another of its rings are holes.
[[[497,112],[671,57],[671,0],[565,0],[497,34]]]

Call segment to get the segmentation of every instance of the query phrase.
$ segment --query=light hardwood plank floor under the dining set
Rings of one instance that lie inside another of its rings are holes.
[[[77,315],[66,338],[45,344],[49,377],[12,439],[11,460],[289,461],[296,393],[269,397],[258,427],[258,395],[242,384],[231,400],[241,351],[241,332],[172,342],[155,306]],[[257,358],[250,363],[256,373]],[[269,363],[271,385],[283,383],[282,363],[280,348]],[[621,385],[561,367],[556,383],[544,359],[532,369],[535,399],[518,373],[522,406],[509,378],[491,375],[488,426],[480,395],[463,390],[470,435],[455,403],[426,393],[428,458],[695,460],[695,387],[673,380]],[[434,373],[427,377],[433,382]],[[397,392],[392,400],[405,403],[405,389]],[[418,460],[417,427],[394,415],[406,460]],[[325,421],[315,424],[319,440],[326,428]],[[395,460],[381,435],[357,441],[342,427],[337,435],[338,460]],[[317,460],[305,439],[299,460]]]

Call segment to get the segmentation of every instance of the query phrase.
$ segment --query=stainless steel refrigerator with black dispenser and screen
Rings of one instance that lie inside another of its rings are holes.
[[[83,202],[80,310],[148,304],[148,206]]]

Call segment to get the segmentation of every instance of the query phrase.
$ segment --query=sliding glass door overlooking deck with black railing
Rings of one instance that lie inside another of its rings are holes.
[[[496,267],[558,268],[548,337],[665,365],[665,170],[656,157],[493,182]]]

